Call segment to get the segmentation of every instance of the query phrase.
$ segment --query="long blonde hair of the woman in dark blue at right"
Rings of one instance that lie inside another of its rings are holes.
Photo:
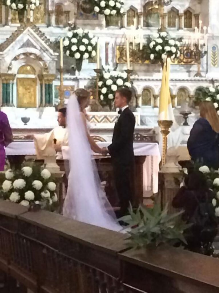
[[[199,109],[201,117],[208,120],[215,132],[219,132],[219,117],[214,104],[210,101],[203,101],[199,105]]]

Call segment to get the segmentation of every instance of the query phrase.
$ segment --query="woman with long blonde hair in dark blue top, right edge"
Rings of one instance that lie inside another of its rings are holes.
[[[219,117],[212,102],[201,102],[200,118],[194,123],[187,142],[192,161],[219,168]]]

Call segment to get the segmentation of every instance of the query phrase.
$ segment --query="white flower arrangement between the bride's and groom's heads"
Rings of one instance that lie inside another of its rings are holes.
[[[110,110],[118,88],[131,88],[128,74],[117,70],[104,69],[99,78],[99,99],[103,106],[108,105]]]

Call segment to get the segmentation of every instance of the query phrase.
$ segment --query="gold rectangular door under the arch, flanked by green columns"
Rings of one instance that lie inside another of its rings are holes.
[[[36,108],[36,78],[17,78],[17,107]]]

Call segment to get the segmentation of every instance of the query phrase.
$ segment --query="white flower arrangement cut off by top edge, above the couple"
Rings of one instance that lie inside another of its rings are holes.
[[[93,0],[94,11],[108,15],[121,15],[124,12],[124,2],[122,0]]]

